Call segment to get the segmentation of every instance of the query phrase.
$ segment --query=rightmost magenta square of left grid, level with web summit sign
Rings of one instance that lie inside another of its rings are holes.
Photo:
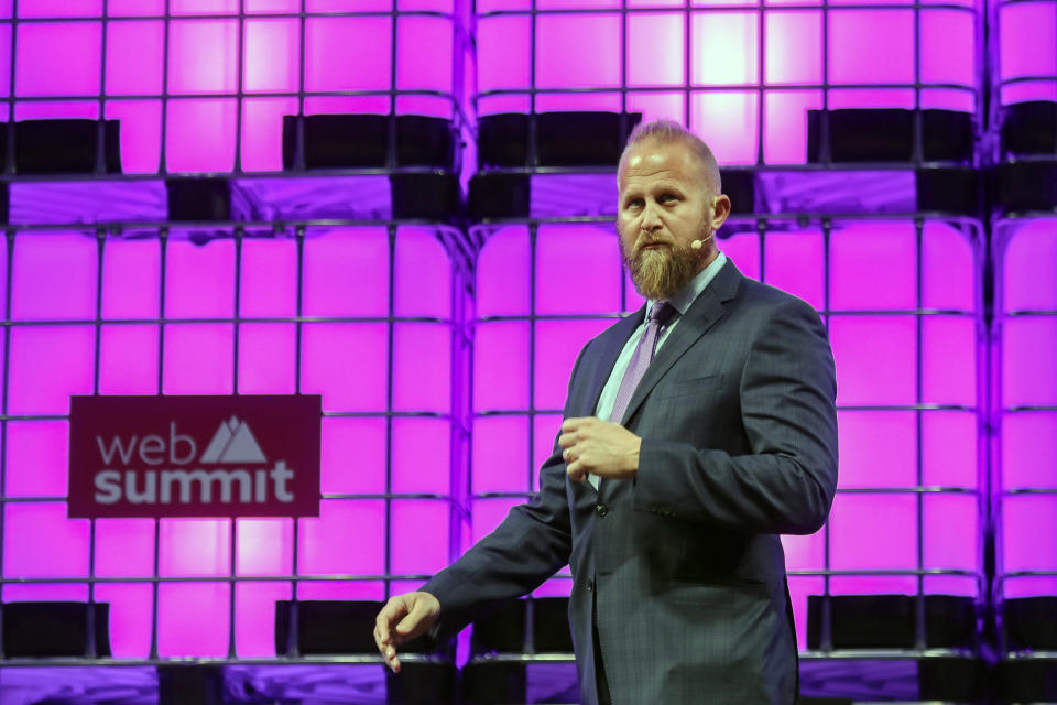
[[[392,491],[451,495],[450,421],[393,419],[392,453]]]

